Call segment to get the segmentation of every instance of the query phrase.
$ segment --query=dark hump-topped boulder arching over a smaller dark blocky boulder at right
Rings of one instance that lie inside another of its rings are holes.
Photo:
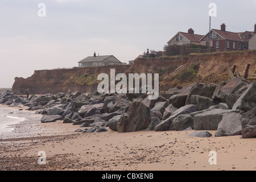
[[[215,84],[200,84],[197,83],[194,85],[188,93],[188,97],[186,100],[186,105],[191,104],[191,96],[204,96],[208,98],[212,98],[214,90],[216,89],[217,85]]]

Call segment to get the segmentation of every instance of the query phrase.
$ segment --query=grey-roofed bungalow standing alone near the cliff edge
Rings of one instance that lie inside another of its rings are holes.
[[[115,58],[113,55],[109,56],[96,56],[94,52],[94,56],[86,57],[85,59],[79,61],[79,67],[94,67],[94,66],[102,66],[102,65],[115,65],[115,64],[125,64]]]

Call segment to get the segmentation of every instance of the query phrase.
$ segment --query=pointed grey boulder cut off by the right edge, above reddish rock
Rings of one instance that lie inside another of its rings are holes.
[[[238,98],[232,109],[249,111],[256,107],[256,81]]]

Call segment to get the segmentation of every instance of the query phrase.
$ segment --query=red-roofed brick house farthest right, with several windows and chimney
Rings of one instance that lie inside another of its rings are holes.
[[[210,34],[210,41],[209,41]],[[235,51],[256,49],[256,24],[254,31],[229,32],[226,31],[226,25],[221,24],[221,30],[212,29],[210,33],[203,36],[200,42],[203,46],[216,48],[216,51]]]

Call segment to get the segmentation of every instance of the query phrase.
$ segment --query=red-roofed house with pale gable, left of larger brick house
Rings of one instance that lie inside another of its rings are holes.
[[[177,34],[167,42],[168,46],[170,45],[185,45],[185,44],[200,44],[200,39],[204,35],[195,34],[192,28],[188,32],[177,32]]]

